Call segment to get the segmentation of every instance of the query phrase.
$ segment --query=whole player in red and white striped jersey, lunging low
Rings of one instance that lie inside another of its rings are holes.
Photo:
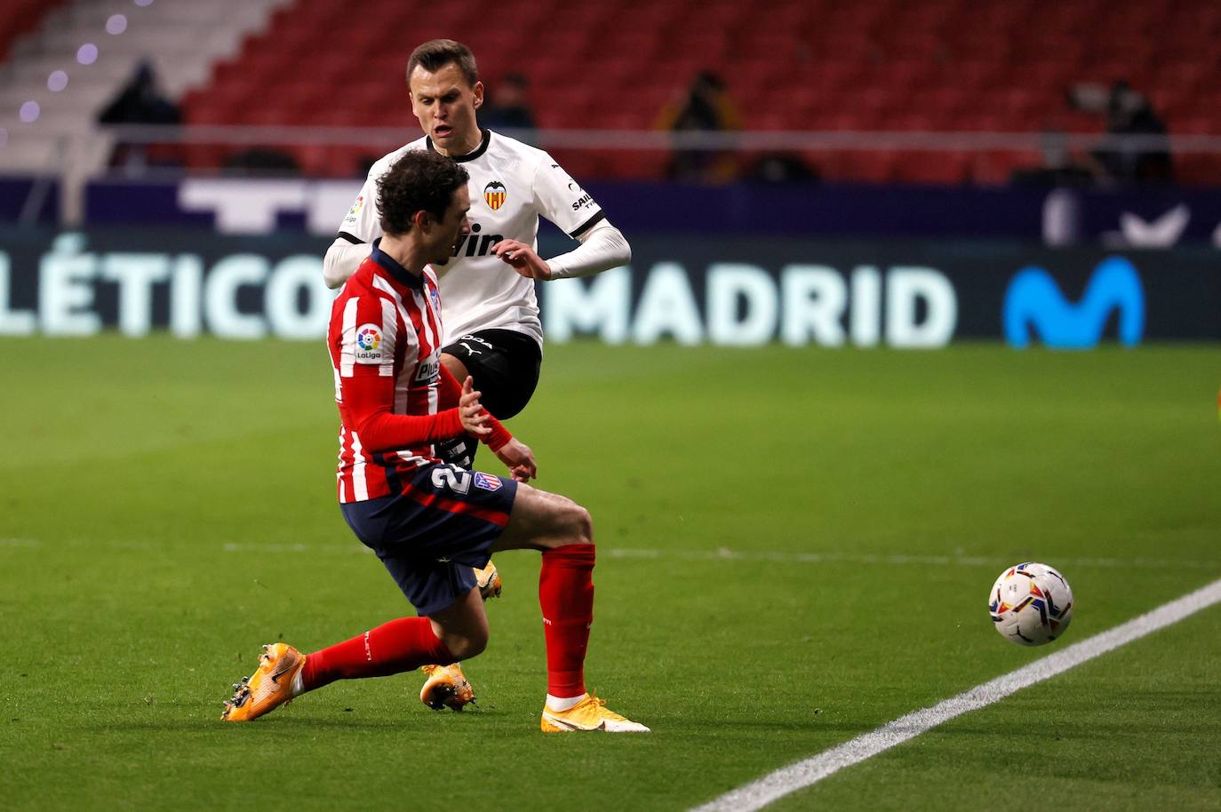
[[[440,361],[441,303],[431,264],[469,231],[466,171],[409,151],[381,178],[385,236],[335,302],[328,343],[343,421],[338,493],[344,519],[377,553],[420,617],[399,618],[303,654],[264,647],[222,718],[247,722],[338,679],[385,676],[479,654],[487,615],[474,568],[492,552],[538,549],[547,643],[546,733],[643,733],[585,690],[593,620],[593,527],[571,499],[526,485],[534,454]],[[510,476],[436,458],[462,435],[486,442]]]

